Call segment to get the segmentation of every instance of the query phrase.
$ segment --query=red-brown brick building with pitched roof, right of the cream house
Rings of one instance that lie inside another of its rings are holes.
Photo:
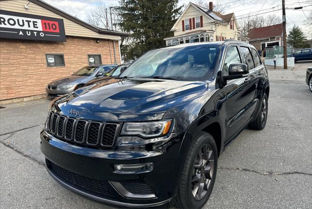
[[[263,51],[268,46],[283,46],[283,23],[252,28],[247,37],[257,50]]]

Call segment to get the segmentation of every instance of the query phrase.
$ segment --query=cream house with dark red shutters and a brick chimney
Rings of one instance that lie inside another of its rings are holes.
[[[248,38],[240,36],[234,13],[223,15],[213,11],[213,2],[209,2],[209,9],[190,2],[171,31],[174,36],[164,39],[166,45],[225,39],[248,42]]]

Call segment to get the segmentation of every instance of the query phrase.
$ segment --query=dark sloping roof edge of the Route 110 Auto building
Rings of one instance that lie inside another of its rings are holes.
[[[128,33],[123,33],[123,32],[119,32],[119,31],[114,31],[114,30],[107,30],[107,29],[103,29],[103,28],[98,28],[98,27],[95,27],[95,26],[92,26],[90,25],[89,23],[87,22],[84,22],[84,21],[81,21],[79,20],[78,18],[42,1],[42,0],[32,0],[33,3],[36,3],[38,4],[39,6],[42,6],[43,8],[47,9],[47,10],[50,10],[51,12],[54,12],[68,20],[71,20],[83,27],[86,27],[90,30],[93,30],[99,34],[108,34],[108,35],[116,35],[116,36],[121,36],[121,37],[128,37],[129,34]]]

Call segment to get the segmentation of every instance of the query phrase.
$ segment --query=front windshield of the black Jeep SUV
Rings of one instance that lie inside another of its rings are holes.
[[[219,51],[219,46],[209,45],[152,50],[138,58],[119,77],[208,80],[214,74]]]

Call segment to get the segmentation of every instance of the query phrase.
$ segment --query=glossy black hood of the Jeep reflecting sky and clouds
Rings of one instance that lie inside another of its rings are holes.
[[[207,87],[205,82],[111,79],[76,90],[58,106],[65,115],[73,109],[79,112],[77,117],[90,120],[156,120]]]

